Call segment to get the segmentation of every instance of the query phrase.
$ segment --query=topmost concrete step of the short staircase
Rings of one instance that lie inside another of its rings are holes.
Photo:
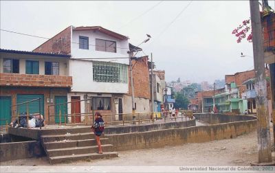
[[[101,136],[102,138],[104,135]],[[43,135],[41,139],[43,143],[52,142],[52,141],[63,141],[67,140],[83,140],[83,139],[95,139],[96,136],[94,132],[84,132],[84,133],[76,133],[76,134],[64,134],[64,135]]]

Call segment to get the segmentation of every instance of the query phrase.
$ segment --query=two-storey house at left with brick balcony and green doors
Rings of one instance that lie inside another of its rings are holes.
[[[46,123],[65,121],[55,116],[65,107],[52,104],[67,102],[67,93],[72,87],[69,76],[69,55],[45,54],[32,51],[0,49],[0,124],[14,119],[23,112],[39,113],[39,100],[12,106],[40,98],[40,113],[46,115]],[[12,106],[12,109],[10,109]],[[52,117],[47,117],[48,106]],[[13,118],[11,118],[13,117]]]

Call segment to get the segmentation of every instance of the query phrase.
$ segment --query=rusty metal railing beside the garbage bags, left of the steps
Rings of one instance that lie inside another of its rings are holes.
[[[29,117],[30,117],[29,104],[31,102],[36,102],[37,100],[39,100],[39,122],[40,122],[39,128],[41,129],[41,98],[37,98],[37,99],[34,99],[34,100],[30,100],[30,101],[27,101],[27,102],[22,102],[22,103],[14,104],[14,105],[10,106],[11,108],[14,107],[14,106],[17,106],[17,109],[14,110],[14,111],[16,111],[16,115],[12,116],[12,118],[14,118],[14,117],[17,118],[18,124],[20,124],[19,117],[25,117],[25,116],[20,115],[20,113],[19,113],[19,107],[25,104],[25,106],[26,106],[25,112],[27,113],[27,115],[26,115],[27,122],[26,123],[27,123],[27,128],[29,128]]]

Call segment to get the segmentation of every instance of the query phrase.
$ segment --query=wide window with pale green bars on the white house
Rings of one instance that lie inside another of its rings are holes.
[[[113,62],[93,62],[93,78],[96,82],[127,83],[127,65]]]

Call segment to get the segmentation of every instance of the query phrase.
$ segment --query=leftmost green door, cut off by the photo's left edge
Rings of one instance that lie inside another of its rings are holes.
[[[5,125],[6,121],[10,124],[12,118],[11,104],[11,97],[0,96],[0,126]]]

